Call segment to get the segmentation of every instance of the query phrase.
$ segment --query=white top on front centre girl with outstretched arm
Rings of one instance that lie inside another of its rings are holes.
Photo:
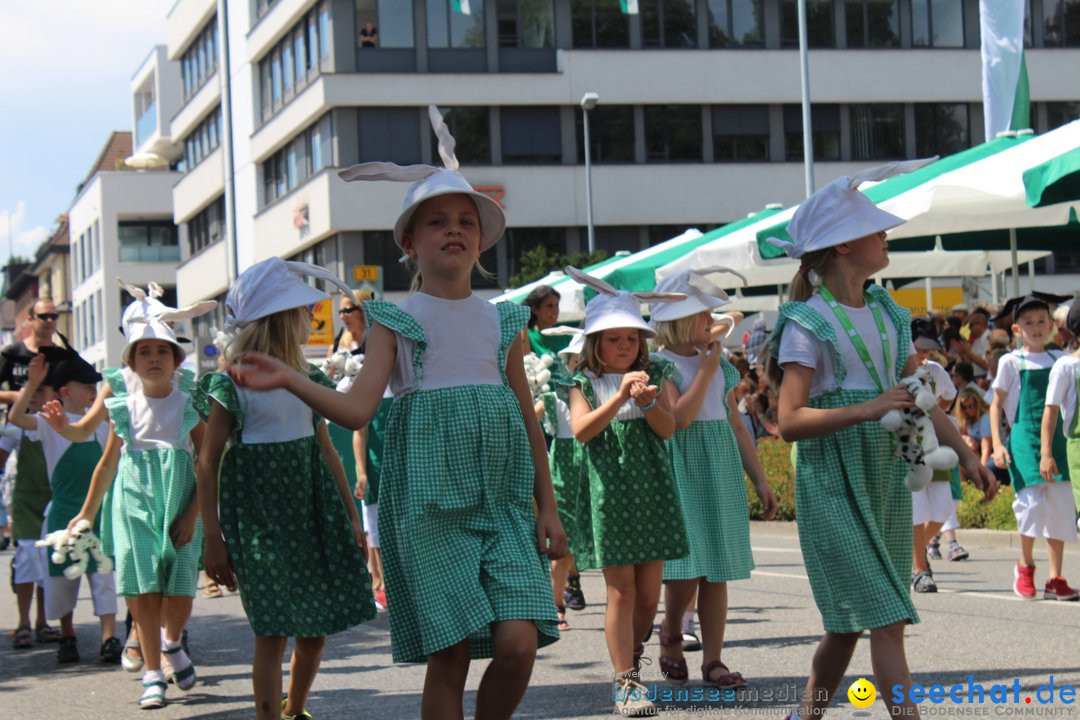
[[[499,311],[476,295],[444,300],[414,293],[400,308],[423,328],[421,390],[460,385],[501,385]],[[397,359],[391,373],[394,395],[415,389],[411,340],[397,335]]]

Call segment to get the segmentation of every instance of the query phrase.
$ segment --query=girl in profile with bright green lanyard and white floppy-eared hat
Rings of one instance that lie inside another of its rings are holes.
[[[920,161],[921,162],[921,161]],[[895,439],[878,422],[914,399],[896,379],[915,370],[909,314],[866,282],[889,263],[885,231],[903,222],[858,190],[913,168],[894,163],[841,177],[799,205],[791,241],[801,260],[770,343],[769,378],[780,385],[780,430],[798,441],[795,503],[799,544],[825,626],[793,718],[824,712],[864,630],[877,687],[910,687],[904,626],[918,622],[908,578],[912,493]],[[934,429],[987,497],[988,471],[934,408]],[[918,717],[910,699],[892,715]]]

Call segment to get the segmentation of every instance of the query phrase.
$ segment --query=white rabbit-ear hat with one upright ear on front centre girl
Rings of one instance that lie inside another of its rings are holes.
[[[454,136],[450,135],[449,127],[443,120],[442,113],[434,105],[428,106],[428,117],[431,119],[431,127],[438,139],[438,154],[443,159],[445,167],[434,165],[397,165],[394,163],[361,163],[347,167],[338,173],[346,182],[355,180],[391,180],[395,182],[413,182],[413,186],[405,193],[405,204],[397,221],[394,222],[394,242],[397,247],[402,246],[402,237],[405,229],[408,228],[413,214],[426,200],[437,198],[438,195],[465,194],[472,198],[476,204],[476,212],[480,214],[481,243],[480,249],[487,248],[499,242],[503,231],[507,229],[507,216],[502,212],[499,203],[495,202],[483,192],[473,190],[459,171],[460,163],[454,154],[457,145]]]

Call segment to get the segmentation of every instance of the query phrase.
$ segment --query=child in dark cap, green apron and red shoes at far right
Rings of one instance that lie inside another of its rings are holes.
[[[1058,417],[1047,433],[1050,445],[1044,458],[1054,462],[1057,473],[1043,475],[1040,467],[1050,372],[1055,361],[1066,357],[1061,351],[1045,349],[1054,334],[1050,311],[1047,300],[1034,295],[1013,298],[1002,310],[1013,317],[1013,336],[1020,338],[1021,349],[998,363],[990,403],[990,432],[994,462],[999,467],[1009,467],[1016,491],[1013,514],[1020,531],[1020,562],[1013,571],[1013,592],[1022,598],[1035,599],[1035,539],[1045,538],[1050,574],[1042,597],[1077,600],[1080,594],[1062,576],[1065,543],[1076,542],[1077,527],[1065,433]],[[1008,446],[1001,439],[1002,417],[1011,426]]]

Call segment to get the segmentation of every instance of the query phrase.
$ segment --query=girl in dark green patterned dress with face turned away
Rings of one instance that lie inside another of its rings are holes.
[[[237,279],[226,297],[226,330],[233,334],[226,361],[231,366],[245,353],[267,353],[334,392],[303,358],[308,307],[328,296],[301,275],[343,285],[323,268],[275,257]],[[238,388],[219,372],[200,388],[207,399],[200,408],[207,424],[198,467],[206,574],[240,588],[255,634],[256,717],[309,717],[305,704],[325,636],[375,616],[352,488],[326,423],[288,392]],[[291,637],[296,646],[282,702],[281,662]]]

